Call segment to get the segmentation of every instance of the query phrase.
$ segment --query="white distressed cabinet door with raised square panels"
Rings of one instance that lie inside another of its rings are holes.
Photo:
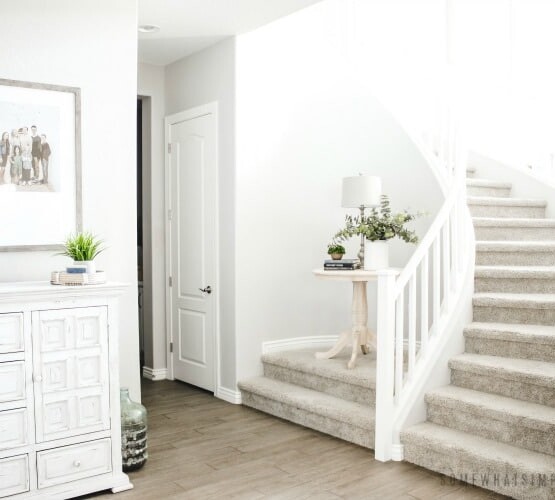
[[[33,320],[33,342],[41,349],[34,355],[37,442],[109,429],[106,308],[41,311]],[[69,332],[63,350],[50,350],[41,337],[52,324]]]

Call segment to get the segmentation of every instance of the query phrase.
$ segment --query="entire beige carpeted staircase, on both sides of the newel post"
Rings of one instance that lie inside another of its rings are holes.
[[[470,173],[473,170],[470,169]],[[403,431],[405,460],[517,499],[555,499],[555,220],[511,184],[470,178],[476,231],[474,322],[451,385],[426,395],[428,419]],[[243,403],[374,446],[375,359],[314,350],[265,354]]]

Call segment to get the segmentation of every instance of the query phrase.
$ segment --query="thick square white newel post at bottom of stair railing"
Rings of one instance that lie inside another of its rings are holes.
[[[395,272],[378,272],[375,458],[392,458],[395,365]]]

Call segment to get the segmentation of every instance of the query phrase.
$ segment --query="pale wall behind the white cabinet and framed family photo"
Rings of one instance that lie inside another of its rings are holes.
[[[98,268],[130,284],[120,300],[120,373],[139,399],[137,2],[22,0],[3,12],[3,78],[81,88],[83,225],[106,241]],[[52,252],[1,253],[0,281],[48,280],[68,262]]]

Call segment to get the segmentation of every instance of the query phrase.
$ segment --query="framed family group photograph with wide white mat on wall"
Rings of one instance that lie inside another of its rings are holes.
[[[82,229],[81,92],[0,79],[0,252],[60,248]]]

